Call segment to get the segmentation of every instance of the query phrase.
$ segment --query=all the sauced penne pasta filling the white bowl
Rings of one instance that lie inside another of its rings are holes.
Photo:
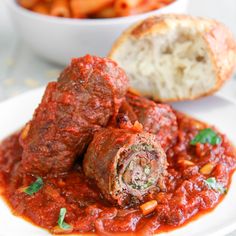
[[[145,13],[175,0],[18,0],[31,11],[65,18],[114,18]]]

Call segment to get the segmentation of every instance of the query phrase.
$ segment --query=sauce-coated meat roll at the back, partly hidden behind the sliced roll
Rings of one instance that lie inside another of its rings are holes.
[[[128,104],[125,104],[125,103]],[[156,135],[158,142],[166,151],[175,144],[178,133],[176,115],[168,104],[157,104],[147,98],[128,92],[122,109],[134,122],[137,120],[144,130]]]

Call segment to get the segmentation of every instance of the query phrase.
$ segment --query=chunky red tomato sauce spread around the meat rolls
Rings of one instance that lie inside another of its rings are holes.
[[[165,192],[147,197],[155,199],[157,208],[142,215],[139,206],[116,208],[106,202],[99,190],[83,174],[80,163],[59,177],[43,178],[43,187],[27,195],[22,187],[29,186],[35,177],[20,172],[22,148],[19,133],[5,139],[0,146],[1,194],[13,213],[48,229],[52,233],[159,233],[188,223],[189,219],[213,209],[225,193],[210,188],[208,178],[229,187],[236,167],[234,147],[222,135],[221,142],[190,145],[199,130],[208,125],[176,112],[178,140],[167,152],[169,167],[165,177]],[[66,208],[68,231],[57,226],[61,208]]]

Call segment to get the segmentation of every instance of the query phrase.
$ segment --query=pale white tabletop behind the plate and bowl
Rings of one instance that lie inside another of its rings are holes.
[[[215,18],[225,23],[236,36],[236,0],[190,0],[189,13]],[[0,101],[46,85],[55,80],[62,69],[34,55],[18,39],[0,0]],[[236,101],[236,76],[219,94]],[[236,231],[228,236],[236,236]]]

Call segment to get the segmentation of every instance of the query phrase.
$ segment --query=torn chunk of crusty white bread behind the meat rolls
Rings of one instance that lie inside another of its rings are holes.
[[[191,100],[212,94],[231,77],[236,42],[217,21],[160,15],[125,31],[109,57],[142,95],[163,102]]]

